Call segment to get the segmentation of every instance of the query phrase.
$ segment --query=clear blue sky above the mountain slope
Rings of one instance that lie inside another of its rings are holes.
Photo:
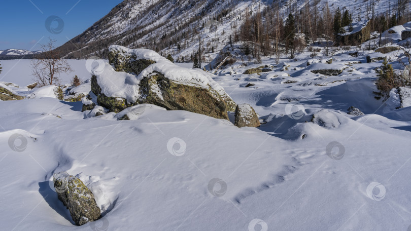
[[[38,43],[47,43],[48,37],[54,38],[56,45],[60,46],[82,33],[121,2],[122,0],[2,1],[0,50],[39,50]]]

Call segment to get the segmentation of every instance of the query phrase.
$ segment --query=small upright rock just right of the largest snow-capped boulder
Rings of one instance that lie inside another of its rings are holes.
[[[235,108],[234,116],[234,125],[239,128],[260,126],[260,121],[258,119],[257,113],[255,113],[250,104],[238,104]]]

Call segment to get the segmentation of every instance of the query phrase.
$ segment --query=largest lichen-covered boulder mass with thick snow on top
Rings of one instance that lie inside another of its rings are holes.
[[[92,76],[90,86],[95,102],[110,111],[142,103],[220,119],[228,119],[227,111],[234,111],[236,104],[213,74],[179,67],[152,50],[111,46],[110,54],[110,64]],[[92,98],[82,101],[92,105]]]

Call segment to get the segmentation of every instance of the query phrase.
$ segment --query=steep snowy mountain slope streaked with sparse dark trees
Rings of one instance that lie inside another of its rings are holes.
[[[285,18],[289,12],[299,12],[310,4],[321,14],[326,2],[332,12],[337,7],[350,10],[354,21],[371,17],[372,9],[375,15],[395,11],[390,0],[124,0],[108,15],[58,49],[66,58],[87,58],[90,55],[107,58],[107,48],[116,44],[152,49],[172,54],[176,59],[187,58],[198,50],[198,36],[201,36],[207,62],[229,43],[230,35],[238,34],[245,12],[255,14],[279,4]]]

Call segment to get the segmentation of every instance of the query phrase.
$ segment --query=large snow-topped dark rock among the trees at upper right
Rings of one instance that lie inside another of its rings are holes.
[[[361,25],[362,24],[362,25]],[[346,28],[347,30],[348,28]],[[371,37],[371,24],[367,22],[358,22],[354,30],[342,34],[337,34],[335,46],[354,46],[362,44]]]

